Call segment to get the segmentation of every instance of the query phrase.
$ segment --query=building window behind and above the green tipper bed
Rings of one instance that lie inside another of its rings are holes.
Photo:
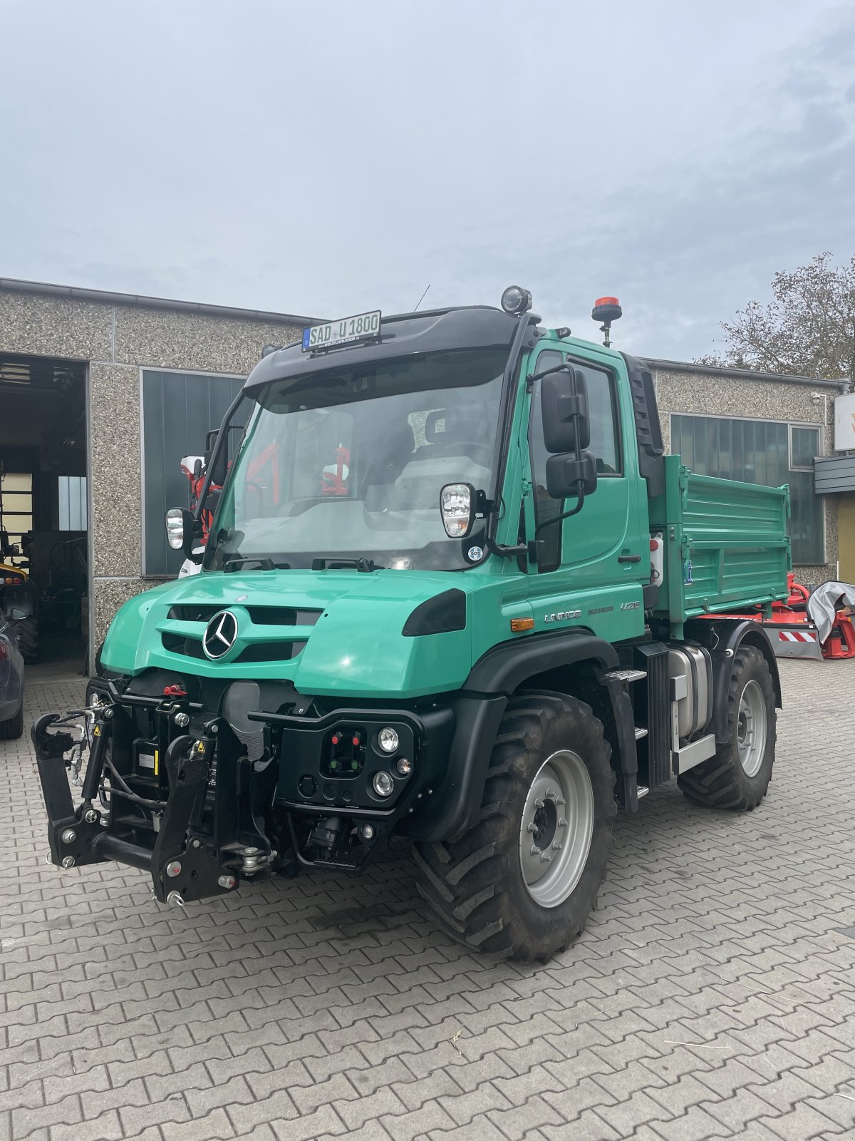
[[[671,415],[671,452],[702,476],[790,485],[792,561],[825,560],[822,500],[814,494],[820,429],[780,421]]]

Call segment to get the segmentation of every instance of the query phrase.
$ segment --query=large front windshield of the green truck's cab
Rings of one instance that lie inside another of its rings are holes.
[[[506,362],[506,348],[459,349],[274,382],[247,427],[205,563],[471,566],[483,523],[449,539],[439,493],[469,483],[490,494]]]

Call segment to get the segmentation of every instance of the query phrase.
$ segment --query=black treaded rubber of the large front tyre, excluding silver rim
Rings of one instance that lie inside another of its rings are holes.
[[[542,756],[545,730],[559,718],[584,723],[585,731],[598,739],[608,766],[611,751],[603,726],[587,705],[563,694],[518,694],[508,701],[499,726],[475,824],[458,840],[415,845],[420,895],[447,932],[474,950],[545,962],[579,937],[605,877],[603,866],[593,898],[569,928],[555,924],[537,938],[508,919],[508,860],[519,860],[518,811],[529,788],[522,770],[531,754]],[[608,768],[606,851],[617,815],[614,774]]]

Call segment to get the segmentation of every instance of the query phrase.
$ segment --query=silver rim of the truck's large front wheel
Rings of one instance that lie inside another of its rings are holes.
[[[520,865],[528,893],[557,907],[585,871],[594,835],[594,790],[581,758],[562,748],[537,770],[522,809]]]

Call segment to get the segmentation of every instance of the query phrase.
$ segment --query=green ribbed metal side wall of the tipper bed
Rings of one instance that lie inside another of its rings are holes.
[[[792,567],[787,486],[698,476],[665,458],[665,492],[650,501],[651,533],[665,539],[657,614],[673,638],[701,614],[767,605],[788,596]]]

